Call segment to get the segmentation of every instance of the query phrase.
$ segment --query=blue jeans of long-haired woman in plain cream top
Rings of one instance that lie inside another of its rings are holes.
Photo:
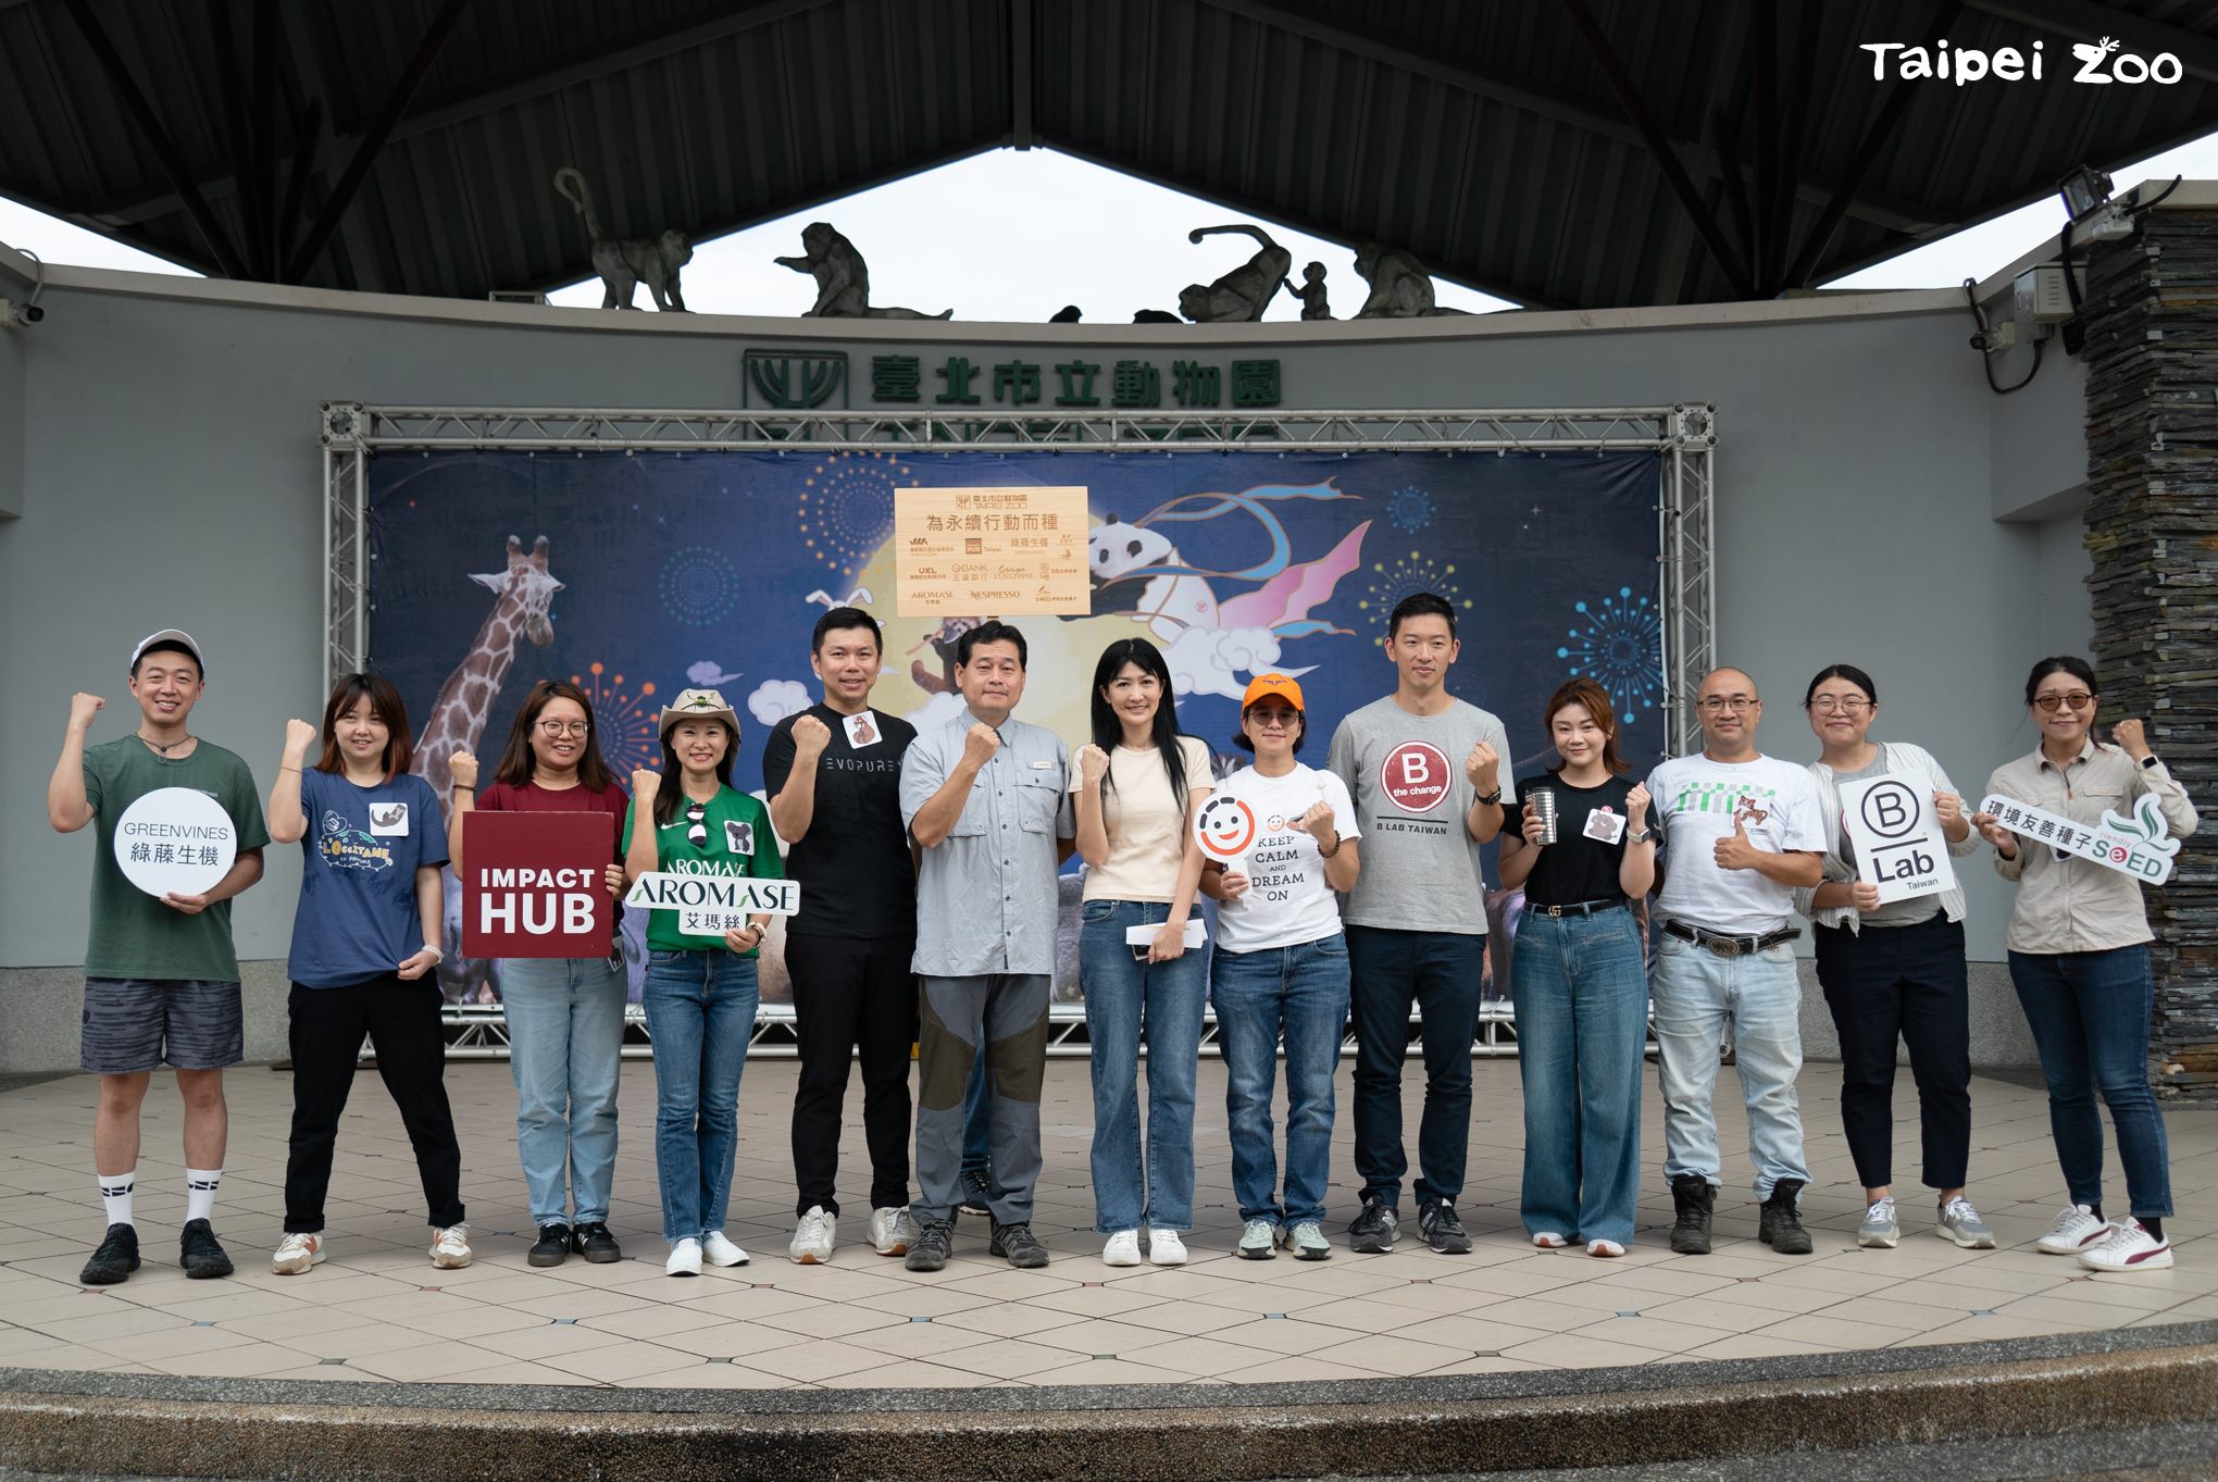
[[[1093,1229],[1193,1229],[1193,1069],[1202,1052],[1204,958],[1136,963],[1125,927],[1162,925],[1153,901],[1087,901],[1078,981],[1093,1067]],[[1140,1041],[1147,1041],[1147,1163],[1140,1160]]]

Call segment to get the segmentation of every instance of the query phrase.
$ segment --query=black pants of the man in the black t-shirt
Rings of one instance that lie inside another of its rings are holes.
[[[916,1043],[914,936],[787,936],[801,1085],[794,1089],[794,1214],[838,1214],[838,1123],[847,1060],[863,1060],[869,1207],[909,1202],[909,1045]]]

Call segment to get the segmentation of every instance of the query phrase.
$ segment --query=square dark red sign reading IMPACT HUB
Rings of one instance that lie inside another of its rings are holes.
[[[461,821],[466,956],[608,956],[617,903],[606,812],[472,812]]]

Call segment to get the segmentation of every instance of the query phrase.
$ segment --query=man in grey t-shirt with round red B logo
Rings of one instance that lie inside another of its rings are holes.
[[[1355,1171],[1364,1209],[1349,1247],[1386,1253],[1400,1231],[1402,1058],[1408,1012],[1424,1018],[1417,1231],[1442,1253],[1471,1236],[1455,1218],[1471,1143],[1471,1041],[1486,972],[1479,845],[1502,832],[1502,721],[1448,694],[1462,646],[1444,597],[1404,597],[1386,621],[1395,692],[1340,721],[1326,765],[1355,799],[1364,872],[1349,892],[1355,1012]]]

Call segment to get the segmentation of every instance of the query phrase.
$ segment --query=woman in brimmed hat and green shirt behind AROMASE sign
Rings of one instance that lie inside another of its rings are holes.
[[[663,710],[661,732],[663,770],[632,772],[628,874],[783,876],[770,810],[732,785],[739,714],[723,694],[685,690]],[[747,1265],[723,1218],[739,1154],[739,1072],[759,1001],[754,963],[770,916],[652,910],[648,918],[643,998],[654,1038],[654,1171],[670,1242],[663,1271],[701,1276],[703,1258]]]

